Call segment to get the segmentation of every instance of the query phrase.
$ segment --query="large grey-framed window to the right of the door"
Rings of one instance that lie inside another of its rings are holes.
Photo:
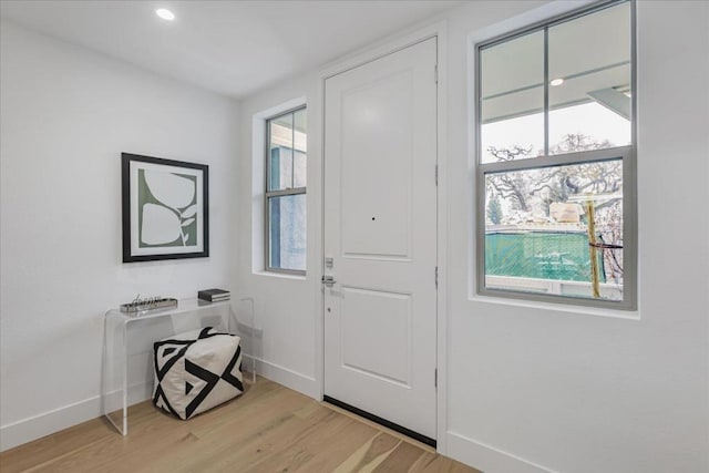
[[[476,45],[479,294],[635,308],[631,14]]]

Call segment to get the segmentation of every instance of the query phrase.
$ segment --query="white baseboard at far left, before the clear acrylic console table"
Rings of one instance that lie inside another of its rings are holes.
[[[102,415],[101,397],[0,426],[0,451],[12,449]]]

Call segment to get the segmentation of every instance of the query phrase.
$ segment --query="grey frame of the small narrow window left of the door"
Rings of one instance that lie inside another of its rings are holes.
[[[280,119],[286,115],[294,115],[300,111],[307,111],[307,104],[298,105],[292,109],[287,109],[281,112],[278,112],[275,115],[268,116],[265,119],[266,121],[266,134],[264,140],[264,269],[268,273],[278,273],[282,275],[294,275],[294,276],[305,276],[307,274],[307,253],[306,253],[306,269],[289,269],[289,268],[277,268],[270,265],[270,199],[274,197],[282,197],[282,196],[295,196],[295,195],[307,195],[307,185],[304,187],[294,187],[288,189],[279,189],[279,191],[268,191],[268,182],[270,178],[270,128],[274,120]],[[295,123],[294,123],[294,146],[295,146]],[[307,135],[307,132],[306,132]],[[295,148],[292,150],[294,161],[295,161]],[[307,153],[306,153],[306,163],[307,163]],[[295,167],[291,169],[291,174],[295,174]],[[294,179],[295,177],[291,176]],[[307,171],[306,171],[307,178]],[[307,217],[306,217],[307,218]],[[306,220],[307,222],[307,220]],[[307,232],[307,225],[306,225]],[[307,247],[306,247],[307,251]]]

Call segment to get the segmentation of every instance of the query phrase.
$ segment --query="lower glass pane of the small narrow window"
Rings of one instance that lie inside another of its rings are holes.
[[[306,195],[268,198],[268,266],[306,269]]]

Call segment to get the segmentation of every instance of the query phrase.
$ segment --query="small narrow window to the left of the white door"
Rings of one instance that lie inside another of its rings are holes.
[[[266,269],[306,270],[306,109],[267,121]]]

